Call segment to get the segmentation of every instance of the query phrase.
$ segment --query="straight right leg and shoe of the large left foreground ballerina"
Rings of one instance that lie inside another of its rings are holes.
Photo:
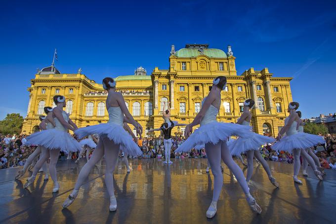
[[[105,184],[107,192],[110,195],[110,211],[114,212],[117,210],[117,200],[114,195],[113,187],[113,172],[116,168],[118,155],[119,155],[119,144],[115,144],[108,138],[104,138],[104,155],[106,160],[106,170],[105,170]]]

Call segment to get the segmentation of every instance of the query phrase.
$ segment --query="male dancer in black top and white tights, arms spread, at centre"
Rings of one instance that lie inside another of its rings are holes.
[[[170,161],[170,151],[171,151],[171,130],[172,128],[174,128],[175,126],[186,126],[186,124],[178,124],[177,122],[174,123],[173,121],[168,121],[168,123],[164,123],[161,125],[160,128],[158,129],[151,129],[149,130],[150,132],[153,131],[162,131],[164,134],[164,146],[165,146],[165,161],[164,163],[172,163]]]

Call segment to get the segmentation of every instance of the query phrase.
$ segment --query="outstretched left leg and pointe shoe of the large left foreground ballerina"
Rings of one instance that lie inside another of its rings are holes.
[[[91,155],[91,159],[84,165],[80,174],[78,175],[75,188],[72,191],[72,193],[69,195],[69,197],[63,203],[63,208],[67,208],[69,205],[71,205],[75,201],[78,195],[78,192],[80,190],[80,187],[83,185],[85,179],[87,178],[88,174],[90,173],[94,165],[97,162],[99,162],[99,160],[103,157],[103,155],[104,155],[104,143],[103,143],[103,140],[100,140],[98,142],[97,147],[94,149]]]

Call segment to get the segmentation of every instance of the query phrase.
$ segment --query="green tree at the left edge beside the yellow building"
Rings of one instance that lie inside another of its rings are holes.
[[[20,134],[23,117],[20,114],[7,114],[5,119],[0,121],[1,134]]]

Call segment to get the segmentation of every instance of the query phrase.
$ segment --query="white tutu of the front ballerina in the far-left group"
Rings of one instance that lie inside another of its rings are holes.
[[[69,133],[57,129],[47,129],[27,137],[27,144],[41,145],[47,149],[61,149],[63,152],[76,152],[82,149],[80,143]]]

